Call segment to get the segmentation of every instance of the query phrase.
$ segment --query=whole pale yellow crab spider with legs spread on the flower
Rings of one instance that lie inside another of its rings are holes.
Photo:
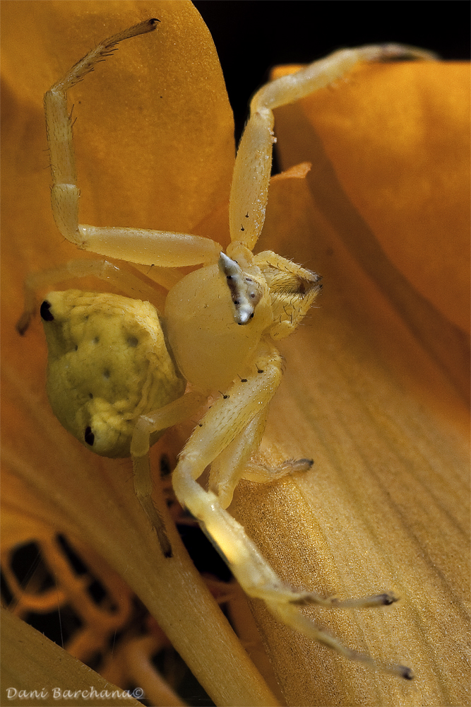
[[[268,469],[251,462],[280,384],[281,357],[273,342],[297,328],[321,287],[314,272],[270,251],[252,252],[268,199],[273,109],[328,86],[357,62],[429,55],[398,45],[345,49],[258,90],[234,165],[232,242],[221,252],[219,244],[198,235],[78,222],[80,192],[67,91],[119,42],[152,32],[157,22],[145,21],[101,42],[47,91],[52,211],[61,234],[79,248],[138,264],[197,269],[177,281],[166,298],[158,285],[106,260],[74,261],[34,274],[26,283],[18,330],[28,327],[37,288],[71,276],[112,280],[130,295],[137,284],[143,297],[153,300],[157,292],[165,317],[144,300],[80,290],[49,293],[40,312],[49,348],[48,396],[57,418],[90,450],[109,457],[131,455],[136,495],[170,558],[172,549],[151,499],[148,450],[166,428],[196,414],[211,391],[222,391],[179,455],[173,486],[181,505],[198,520],[246,594],[266,602],[281,621],[348,658],[411,679],[412,671],[403,665],[379,663],[345,648],[301,611],[306,604],[377,607],[395,602],[395,595],[341,602],[290,588],[226,509],[240,479],[263,483],[302,472],[312,463],[290,460]],[[185,392],[187,382],[191,392]],[[208,465],[206,490],[198,479]]]

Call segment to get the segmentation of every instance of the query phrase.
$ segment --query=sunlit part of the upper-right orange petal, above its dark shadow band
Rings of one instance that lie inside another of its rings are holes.
[[[302,103],[386,255],[467,332],[469,77],[469,64],[458,62],[374,64]],[[285,160],[291,149],[284,139]]]

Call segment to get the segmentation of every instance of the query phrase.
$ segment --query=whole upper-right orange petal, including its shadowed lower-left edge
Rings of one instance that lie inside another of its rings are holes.
[[[278,112],[287,166],[315,165],[308,181],[323,216],[466,400],[468,83],[467,64],[363,66]]]

